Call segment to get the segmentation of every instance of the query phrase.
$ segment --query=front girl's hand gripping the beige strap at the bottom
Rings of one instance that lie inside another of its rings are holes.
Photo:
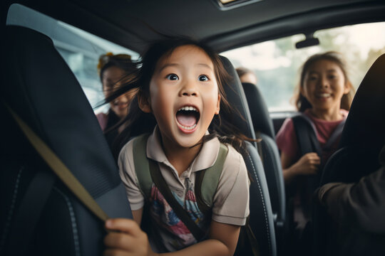
[[[107,249],[103,255],[155,255],[150,248],[147,234],[134,220],[110,219],[106,221],[106,229],[109,233],[104,238]]]

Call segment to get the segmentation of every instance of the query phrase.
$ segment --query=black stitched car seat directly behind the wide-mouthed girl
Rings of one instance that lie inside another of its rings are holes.
[[[232,77],[232,80],[224,85],[227,100],[244,117],[235,117],[233,124],[247,137],[255,139],[250,111],[240,79],[230,60],[223,56],[220,57],[227,73]],[[247,142],[247,150],[242,155],[253,180],[250,185],[250,226],[256,235],[258,246],[260,247],[260,255],[277,255],[274,217],[269,190],[267,188],[265,171],[255,143]]]

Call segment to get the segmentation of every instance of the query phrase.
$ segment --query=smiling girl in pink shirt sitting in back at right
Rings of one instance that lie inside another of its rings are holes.
[[[339,53],[335,52],[312,55],[302,65],[297,108],[314,124],[322,155],[315,152],[300,155],[291,118],[284,121],[277,134],[284,182],[288,187],[294,185],[294,223],[297,223],[299,230],[304,228],[311,217],[311,213],[304,210],[306,203],[301,202],[299,196],[301,187],[307,182],[304,178],[317,174],[320,171],[319,164],[325,163],[337,149],[341,134],[337,134],[338,139],[331,146],[326,148],[325,144],[337,126],[346,119],[350,109],[354,90],[345,66]],[[310,198],[312,191],[308,193]]]

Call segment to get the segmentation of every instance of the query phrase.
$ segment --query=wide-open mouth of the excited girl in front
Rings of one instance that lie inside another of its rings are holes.
[[[185,106],[181,107],[176,113],[176,121],[178,127],[184,133],[192,133],[197,127],[197,122],[200,118],[200,113],[196,107]]]

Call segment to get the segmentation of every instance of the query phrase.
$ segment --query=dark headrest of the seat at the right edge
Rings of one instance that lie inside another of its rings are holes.
[[[385,54],[371,65],[354,96],[340,147],[380,151],[385,143]]]

